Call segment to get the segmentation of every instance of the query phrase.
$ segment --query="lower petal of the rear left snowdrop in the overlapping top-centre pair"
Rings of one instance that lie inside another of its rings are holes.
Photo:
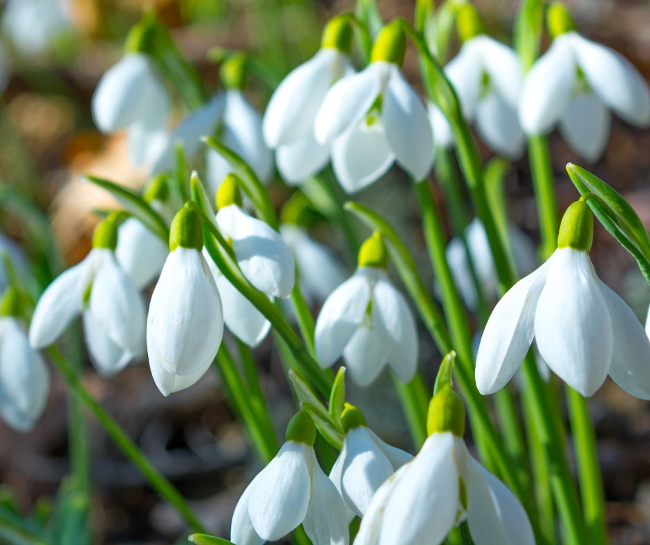
[[[330,145],[319,144],[313,133],[277,148],[275,160],[280,175],[290,185],[318,174],[330,160]]]

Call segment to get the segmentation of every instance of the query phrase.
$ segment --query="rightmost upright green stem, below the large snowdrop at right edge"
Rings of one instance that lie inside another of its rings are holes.
[[[588,402],[573,388],[566,386],[565,390],[588,541],[593,545],[605,545],[607,543],[605,497],[598,464],[596,435],[589,415]]]

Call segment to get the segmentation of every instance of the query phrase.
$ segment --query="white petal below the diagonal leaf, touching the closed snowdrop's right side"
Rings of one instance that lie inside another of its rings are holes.
[[[249,347],[257,347],[271,329],[271,322],[225,276],[219,275],[215,281],[221,295],[225,326]]]

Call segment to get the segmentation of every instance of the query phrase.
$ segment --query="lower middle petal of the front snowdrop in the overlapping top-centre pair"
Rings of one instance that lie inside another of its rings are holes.
[[[360,121],[332,145],[334,174],[350,194],[377,181],[394,162],[395,154],[379,119],[373,120],[371,125],[365,120]]]

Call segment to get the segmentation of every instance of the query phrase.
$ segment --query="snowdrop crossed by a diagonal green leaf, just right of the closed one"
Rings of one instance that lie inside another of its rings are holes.
[[[243,275],[269,297],[288,297],[295,281],[291,250],[273,228],[241,209],[241,194],[235,174],[225,177],[216,196],[216,223],[232,241],[234,255]],[[221,274],[203,250],[223,299],[223,318],[228,329],[251,347],[266,337],[270,322]]]

